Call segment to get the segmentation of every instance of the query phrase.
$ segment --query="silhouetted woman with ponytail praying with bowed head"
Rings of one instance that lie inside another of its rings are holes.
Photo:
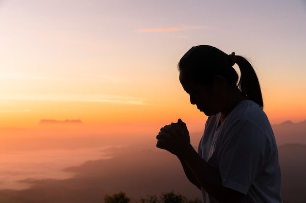
[[[178,157],[203,203],[282,203],[277,146],[251,64],[200,45],[183,55],[178,69],[190,103],[208,119],[198,152],[181,119],[160,129],[157,148]]]

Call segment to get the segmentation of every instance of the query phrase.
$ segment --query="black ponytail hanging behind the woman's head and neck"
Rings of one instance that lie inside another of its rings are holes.
[[[236,57],[236,63],[240,69],[238,88],[249,99],[263,107],[261,87],[252,65],[244,57],[240,55]]]

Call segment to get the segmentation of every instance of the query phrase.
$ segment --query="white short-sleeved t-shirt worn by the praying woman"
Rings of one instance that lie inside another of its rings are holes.
[[[241,101],[218,126],[209,116],[198,153],[219,170],[222,185],[243,194],[242,203],[282,203],[281,172],[273,130],[262,108]],[[202,188],[203,203],[218,203]]]

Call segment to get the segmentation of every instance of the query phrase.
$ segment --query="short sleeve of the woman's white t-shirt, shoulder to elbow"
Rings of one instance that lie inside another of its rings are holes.
[[[236,121],[220,140],[217,159],[222,185],[247,194],[264,163],[267,139],[247,120]]]

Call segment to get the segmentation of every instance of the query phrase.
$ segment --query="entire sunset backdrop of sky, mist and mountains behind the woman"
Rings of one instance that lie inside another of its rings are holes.
[[[305,22],[305,0],[0,0],[0,202],[199,196],[155,148],[177,118],[197,147],[206,116],[176,65],[199,44],[253,64],[284,200],[305,202]]]

